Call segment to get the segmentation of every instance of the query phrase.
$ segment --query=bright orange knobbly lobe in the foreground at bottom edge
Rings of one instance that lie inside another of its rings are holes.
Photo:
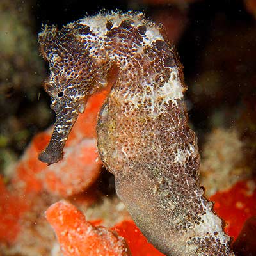
[[[65,256],[130,255],[124,239],[104,227],[93,227],[74,205],[60,201],[47,209],[46,217],[54,228]]]

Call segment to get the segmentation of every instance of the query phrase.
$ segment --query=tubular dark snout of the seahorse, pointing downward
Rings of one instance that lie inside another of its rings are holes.
[[[60,114],[57,113],[51,140],[45,150],[38,156],[40,161],[53,164],[63,158],[63,148],[77,116],[78,111],[76,109],[65,109]]]

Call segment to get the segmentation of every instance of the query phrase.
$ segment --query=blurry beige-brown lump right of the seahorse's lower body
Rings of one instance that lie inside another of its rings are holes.
[[[236,129],[215,129],[206,139],[200,167],[205,195],[230,189],[236,182],[251,177],[246,163],[244,143]]]

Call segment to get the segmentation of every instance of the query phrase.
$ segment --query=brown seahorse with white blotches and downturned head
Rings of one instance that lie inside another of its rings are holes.
[[[39,156],[52,164],[86,100],[115,83],[97,122],[100,159],[136,225],[166,255],[234,255],[230,237],[199,184],[200,156],[188,127],[182,65],[163,28],[142,13],[84,17],[61,29],[44,26],[40,51],[51,74],[56,124]]]

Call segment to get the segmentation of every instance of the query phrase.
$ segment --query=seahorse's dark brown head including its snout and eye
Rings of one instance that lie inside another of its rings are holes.
[[[50,68],[44,88],[56,113],[51,141],[39,156],[49,164],[62,158],[65,141],[88,97],[106,84],[108,60],[90,54],[92,42],[87,42],[88,36],[83,38],[90,33],[88,26],[74,22],[60,30],[45,26],[39,34],[40,51]]]

